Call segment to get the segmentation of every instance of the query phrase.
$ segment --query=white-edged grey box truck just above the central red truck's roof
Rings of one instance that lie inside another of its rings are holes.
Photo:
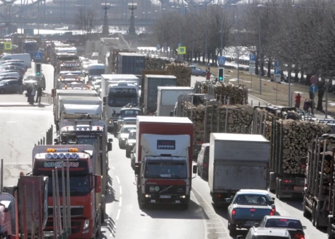
[[[178,96],[193,91],[191,87],[182,86],[158,86],[157,88],[157,116],[170,116],[170,112],[175,109]]]

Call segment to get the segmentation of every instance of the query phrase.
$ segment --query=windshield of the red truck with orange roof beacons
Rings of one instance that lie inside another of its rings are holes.
[[[65,173],[66,174],[66,173]],[[71,175],[71,173],[70,173]],[[66,177],[66,175],[65,175]],[[90,192],[90,178],[89,175],[70,177],[70,195],[85,195]],[[58,175],[59,196],[62,196],[62,180],[61,175]],[[65,178],[66,189],[66,178]],[[52,181],[48,183],[48,196],[52,196]]]

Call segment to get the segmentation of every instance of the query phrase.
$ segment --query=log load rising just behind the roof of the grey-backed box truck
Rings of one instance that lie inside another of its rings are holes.
[[[204,140],[205,142],[209,142],[211,132],[225,131],[226,107],[226,105],[214,104],[208,106],[206,111],[206,106],[204,105],[195,107],[190,102],[185,101],[185,103],[181,103],[181,116],[190,118],[192,115],[193,137],[199,140],[204,139],[205,117],[207,114],[206,139]],[[252,119],[253,108],[251,106],[228,106],[227,133],[250,133]]]

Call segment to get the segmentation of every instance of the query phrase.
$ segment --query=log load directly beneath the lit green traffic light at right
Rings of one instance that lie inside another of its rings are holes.
[[[213,93],[217,96],[217,100],[220,97],[222,100],[224,96],[226,99],[229,97],[229,105],[244,105],[248,103],[248,88],[243,84],[215,82],[212,80],[196,82],[196,87],[196,91],[199,93],[208,93],[211,91],[210,88],[213,88]]]

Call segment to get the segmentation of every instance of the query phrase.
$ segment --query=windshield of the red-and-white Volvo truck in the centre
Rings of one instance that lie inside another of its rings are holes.
[[[187,179],[185,162],[147,162],[144,177]]]

